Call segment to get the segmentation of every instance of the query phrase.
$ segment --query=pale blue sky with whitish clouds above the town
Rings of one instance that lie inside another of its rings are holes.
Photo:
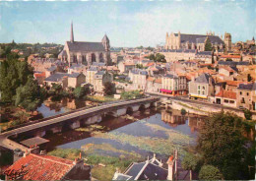
[[[156,46],[166,32],[230,32],[232,42],[256,37],[255,0],[28,1],[0,0],[0,42],[101,41],[113,47]]]

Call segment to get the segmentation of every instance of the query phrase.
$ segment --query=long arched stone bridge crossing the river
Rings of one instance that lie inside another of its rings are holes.
[[[156,106],[160,100],[158,97],[146,97],[134,100],[106,103],[100,106],[79,109],[59,117],[48,118],[41,122],[16,128],[0,134],[0,145],[9,149],[20,148],[23,151],[28,150],[24,146],[12,141],[21,135],[29,137],[43,137],[46,133],[60,133],[66,129],[76,129],[80,126],[86,126],[101,121],[101,116],[111,115],[114,117],[129,114],[138,110],[143,110]]]

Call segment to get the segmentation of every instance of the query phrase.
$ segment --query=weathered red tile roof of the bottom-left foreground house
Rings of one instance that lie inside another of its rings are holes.
[[[73,166],[73,161],[69,159],[30,153],[7,168],[5,174],[18,172],[24,167],[22,180],[61,180]]]

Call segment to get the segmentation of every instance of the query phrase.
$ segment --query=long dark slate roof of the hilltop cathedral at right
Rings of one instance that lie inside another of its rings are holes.
[[[175,36],[178,36],[178,33],[174,33]],[[202,34],[185,34],[185,33],[180,33],[180,41],[182,42],[186,42],[189,41],[190,43],[194,42],[197,43],[197,39],[203,39],[206,37],[209,37],[209,39],[211,40],[212,43],[217,42],[218,44],[223,43],[224,41],[221,39],[221,37],[219,37],[218,35],[202,35]]]

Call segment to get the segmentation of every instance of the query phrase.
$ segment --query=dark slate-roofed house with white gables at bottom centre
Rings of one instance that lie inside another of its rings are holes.
[[[174,180],[177,178],[177,151],[167,160],[167,169],[163,167],[156,154],[152,159],[131,163],[123,173],[116,171],[112,180]]]

